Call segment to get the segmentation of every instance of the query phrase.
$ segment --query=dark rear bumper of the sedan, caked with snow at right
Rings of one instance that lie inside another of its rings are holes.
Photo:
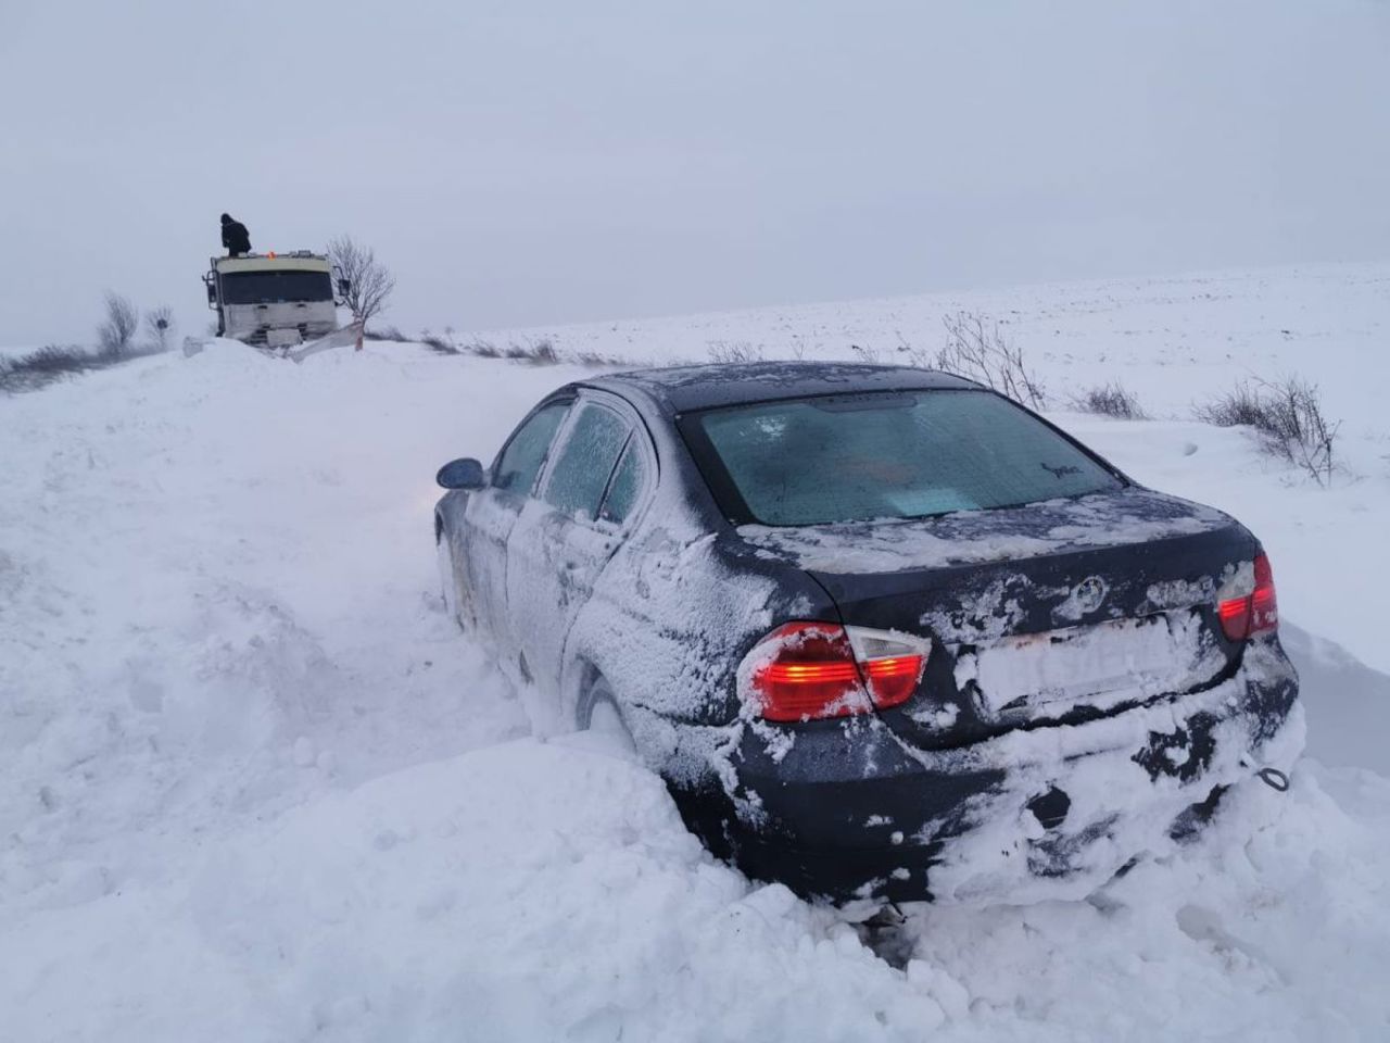
[[[960,750],[915,750],[876,718],[749,726],[726,836],[744,872],[808,896],[1079,897],[1170,847],[1218,787],[1287,770],[1297,694],[1279,644],[1261,641],[1213,688]]]

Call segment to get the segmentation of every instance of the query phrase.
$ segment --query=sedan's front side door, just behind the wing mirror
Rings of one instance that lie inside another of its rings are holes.
[[[507,538],[537,480],[550,444],[564,423],[573,399],[552,399],[538,406],[498,453],[488,476],[488,485],[468,495],[464,526],[460,533],[466,562],[464,597],[473,602],[478,622],[500,642],[510,641],[507,619]]]

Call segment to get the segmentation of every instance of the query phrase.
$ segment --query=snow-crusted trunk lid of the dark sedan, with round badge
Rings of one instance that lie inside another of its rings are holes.
[[[1215,681],[1238,659],[1220,633],[1216,594],[1257,551],[1226,515],[1137,487],[739,534],[809,572],[845,624],[931,638],[917,694],[883,713],[924,748]]]

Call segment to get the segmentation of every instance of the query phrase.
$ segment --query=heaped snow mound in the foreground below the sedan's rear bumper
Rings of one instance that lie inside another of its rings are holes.
[[[1359,820],[1304,773],[1091,901],[915,908],[899,972],[842,916],[713,864],[651,775],[525,740],[36,918],[0,969],[22,1028],[104,1039],[1366,1039],[1390,791],[1346,784]]]

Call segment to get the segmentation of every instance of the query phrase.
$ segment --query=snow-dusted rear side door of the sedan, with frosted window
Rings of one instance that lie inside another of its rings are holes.
[[[523,673],[546,694],[559,690],[564,640],[617,549],[617,526],[600,515],[632,430],[624,403],[585,394],[507,540],[512,633]]]

